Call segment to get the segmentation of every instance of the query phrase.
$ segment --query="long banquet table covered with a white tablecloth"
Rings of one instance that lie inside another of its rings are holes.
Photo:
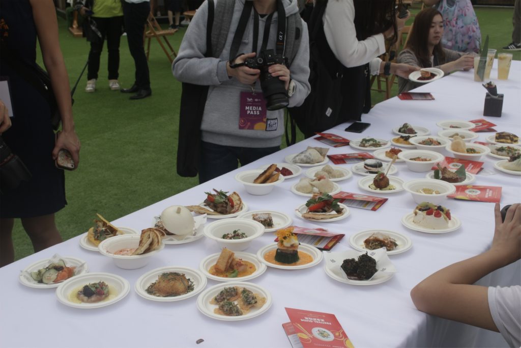
[[[495,63],[497,65],[497,62]],[[497,81],[500,93],[505,94],[503,116],[485,117],[497,124],[498,131],[521,135],[521,62],[512,63],[510,80]],[[491,76],[497,76],[495,68]],[[392,98],[377,104],[363,121],[371,126],[358,135],[345,133],[347,126],[331,129],[331,133],[356,139],[372,136],[390,139],[392,128],[404,122],[427,127],[436,134],[441,119],[471,120],[482,118],[485,90],[474,82],[473,71],[457,72],[438,81],[428,83],[417,91],[431,92],[433,101],[402,101]],[[493,133],[479,133],[478,140]],[[411,212],[415,203],[411,195],[386,195],[389,200],[378,210],[351,208],[345,220],[330,223],[311,223],[294,215],[294,209],[306,200],[290,191],[300,177],[284,181],[266,196],[252,196],[234,176],[246,169],[257,169],[270,163],[283,162],[288,154],[297,153],[306,146],[328,147],[314,139],[306,139],[280,150],[236,171],[193,187],[175,196],[117,219],[118,226],[129,226],[140,231],[150,227],[153,217],[171,205],[193,205],[201,202],[204,191],[212,188],[237,191],[250,210],[267,209],[289,214],[299,226],[320,226],[333,232],[345,233],[333,251],[350,249],[349,236],[366,229],[393,230],[409,236],[413,247],[405,253],[391,255],[398,272],[388,282],[373,286],[353,286],[329,278],[324,263],[302,270],[281,270],[268,267],[253,283],[271,292],[273,304],[261,316],[244,321],[219,321],[208,318],[196,308],[197,296],[179,302],[152,302],[134,292],[134,283],[147,271],[177,265],[199,268],[200,261],[217,253],[217,244],[207,238],[194,243],[167,245],[151,258],[142,269],[117,268],[113,260],[79,245],[80,237],[18,260],[0,269],[0,346],[2,347],[288,347],[290,342],[281,327],[288,322],[284,307],[332,313],[337,316],[345,332],[356,347],[398,346],[506,346],[498,333],[475,329],[428,316],[416,310],[410,291],[419,281],[436,270],[481,253],[490,246],[493,235],[493,204],[463,200],[447,200],[444,205],[462,221],[460,229],[445,234],[426,234],[406,229],[401,217]],[[358,152],[351,147],[330,148],[329,153]],[[519,201],[519,176],[504,174],[494,169],[493,158],[486,157],[485,170],[477,175],[476,185],[502,186],[502,205]],[[350,168],[351,164],[342,165]],[[425,173],[413,173],[403,163],[398,175],[405,181],[423,178]],[[306,168],[304,168],[304,171]],[[303,172],[304,172],[303,171]],[[339,182],[343,191],[362,193],[357,187],[361,176]],[[160,185],[160,183],[157,183]],[[383,195],[379,195],[383,196]],[[101,212],[103,213],[103,212]],[[212,220],[208,220],[209,223]],[[79,231],[80,232],[80,231]],[[274,241],[274,235],[265,234],[256,239],[245,251],[256,253]],[[17,280],[20,270],[30,263],[49,258],[54,254],[75,256],[88,262],[90,272],[116,273],[130,282],[131,291],[121,301],[98,309],[82,310],[67,307],[57,301],[53,289],[31,289]],[[482,285],[520,284],[520,262],[498,270],[479,283]],[[208,280],[207,286],[218,284]],[[225,283],[222,283],[223,285]]]

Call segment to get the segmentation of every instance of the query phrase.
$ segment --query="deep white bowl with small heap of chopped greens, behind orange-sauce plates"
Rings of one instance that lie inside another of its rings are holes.
[[[246,234],[242,239],[223,239],[222,235],[240,230]],[[242,251],[250,246],[253,239],[264,233],[262,223],[250,219],[226,219],[212,222],[204,226],[204,234],[219,244],[220,248],[228,248],[232,251]]]

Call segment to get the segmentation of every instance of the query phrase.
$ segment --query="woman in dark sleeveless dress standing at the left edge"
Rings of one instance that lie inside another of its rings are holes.
[[[21,219],[35,251],[61,242],[54,213],[67,202],[64,173],[56,169],[54,160],[60,149],[67,149],[78,165],[80,141],[72,118],[69,79],[59,47],[53,1],[2,0],[0,38],[3,51],[0,76],[8,77],[14,116],[10,120],[12,126],[2,133],[2,138],[32,175],[28,181],[22,181],[16,188],[4,188],[0,194],[0,266],[4,266],[14,261],[11,232],[15,218]],[[62,130],[56,140],[49,103],[18,73],[20,66],[33,71],[36,38],[61,115]],[[2,164],[0,170],[5,170]]]

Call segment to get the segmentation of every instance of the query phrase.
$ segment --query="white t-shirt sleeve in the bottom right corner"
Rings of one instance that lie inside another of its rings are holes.
[[[488,288],[490,314],[511,347],[521,346],[521,285]]]

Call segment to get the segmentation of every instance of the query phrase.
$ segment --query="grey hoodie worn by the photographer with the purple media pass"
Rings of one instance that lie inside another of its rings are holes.
[[[215,0],[217,3],[219,0]],[[235,29],[239,23],[244,1],[236,0],[233,16],[226,39],[226,45],[219,58],[205,58],[206,20],[208,3],[204,2],[190,22],[179,48],[179,54],[172,64],[173,75],[181,82],[208,85],[208,98],[201,125],[202,139],[224,146],[250,148],[279,146],[284,134],[284,109],[267,111],[267,118],[277,118],[277,129],[251,130],[239,129],[240,94],[251,91],[250,85],[244,85],[234,78],[229,78],[226,62],[230,55],[230,46]],[[282,0],[286,16],[297,13],[297,0]],[[267,49],[275,49],[277,33],[277,12],[272,17]],[[259,18],[258,47],[261,46],[266,18]],[[219,20],[219,18],[215,18]],[[253,11],[243,35],[239,53],[252,52]],[[289,106],[299,106],[309,94],[309,40],[307,26],[302,21],[301,43],[299,51],[290,67],[290,77],[295,81],[295,93],[289,99]],[[262,94],[261,83],[257,80],[255,92]]]

